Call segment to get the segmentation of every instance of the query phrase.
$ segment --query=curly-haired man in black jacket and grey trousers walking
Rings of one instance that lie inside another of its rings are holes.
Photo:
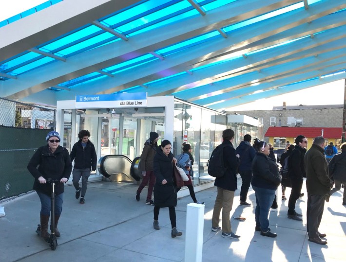
[[[72,147],[70,154],[71,161],[75,160],[75,166],[72,171],[72,182],[76,189],[76,199],[82,193],[79,204],[84,204],[84,196],[88,187],[90,171],[96,170],[97,157],[94,144],[89,140],[90,132],[81,130],[78,133],[78,142]],[[82,188],[79,187],[79,180],[82,178]]]

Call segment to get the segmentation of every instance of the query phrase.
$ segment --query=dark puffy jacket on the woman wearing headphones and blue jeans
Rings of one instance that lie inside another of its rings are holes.
[[[281,175],[276,162],[265,154],[256,152],[252,161],[251,185],[276,190],[281,183]]]

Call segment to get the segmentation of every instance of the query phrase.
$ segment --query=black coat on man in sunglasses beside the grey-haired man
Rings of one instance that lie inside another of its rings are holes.
[[[288,158],[288,175],[291,179],[303,180],[307,177],[304,168],[304,156],[307,150],[299,145],[295,145],[292,154]]]

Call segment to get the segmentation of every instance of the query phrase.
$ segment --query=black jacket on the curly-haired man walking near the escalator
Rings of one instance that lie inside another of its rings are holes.
[[[76,169],[89,168],[93,171],[96,170],[97,157],[94,144],[88,140],[85,148],[82,146],[82,140],[80,139],[75,143],[71,150],[71,162],[75,160]]]

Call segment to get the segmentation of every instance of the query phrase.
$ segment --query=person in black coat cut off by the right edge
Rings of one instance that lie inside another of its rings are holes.
[[[342,184],[346,184],[346,143],[341,144],[341,153],[334,155],[328,164],[329,175],[334,180],[335,187],[330,195],[339,191]],[[329,201],[329,198],[326,200]],[[327,201],[327,202],[328,202]],[[343,206],[346,206],[346,190],[344,189]]]

